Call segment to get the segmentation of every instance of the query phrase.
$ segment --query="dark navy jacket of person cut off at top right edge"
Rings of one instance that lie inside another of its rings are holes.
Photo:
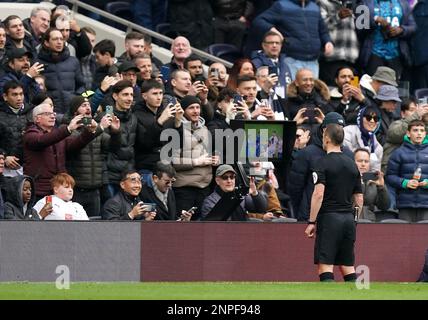
[[[413,8],[417,30],[412,37],[412,57],[415,66],[428,63],[428,2],[418,0]]]

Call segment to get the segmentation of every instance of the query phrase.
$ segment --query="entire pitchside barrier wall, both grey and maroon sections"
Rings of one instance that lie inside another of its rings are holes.
[[[317,281],[305,224],[0,222],[0,281]],[[428,224],[360,224],[371,281],[419,276]],[[336,273],[336,279],[341,279]]]

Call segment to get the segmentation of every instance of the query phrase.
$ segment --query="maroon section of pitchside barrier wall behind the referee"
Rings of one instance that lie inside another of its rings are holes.
[[[142,281],[318,281],[306,224],[143,224]],[[371,281],[416,281],[428,224],[360,224],[356,265]],[[341,280],[339,273],[336,279]]]

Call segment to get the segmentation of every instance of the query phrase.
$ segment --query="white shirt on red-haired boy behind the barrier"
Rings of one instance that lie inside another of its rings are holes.
[[[39,214],[46,204],[46,197],[40,199],[33,207]],[[89,220],[85,209],[73,201],[64,201],[57,196],[52,196],[52,213],[45,220]],[[40,219],[42,217],[39,214]]]

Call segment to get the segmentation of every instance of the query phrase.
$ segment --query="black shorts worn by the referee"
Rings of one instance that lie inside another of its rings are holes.
[[[354,215],[351,212],[319,214],[314,263],[353,266],[355,262],[355,227]]]

